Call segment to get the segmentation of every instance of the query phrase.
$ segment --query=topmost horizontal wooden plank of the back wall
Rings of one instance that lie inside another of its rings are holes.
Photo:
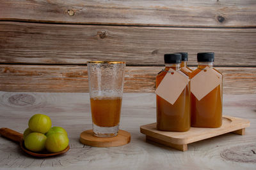
[[[252,27],[253,0],[0,1],[0,20],[72,24]]]

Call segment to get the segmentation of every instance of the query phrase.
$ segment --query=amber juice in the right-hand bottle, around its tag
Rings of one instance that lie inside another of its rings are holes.
[[[199,62],[198,68],[191,73],[196,76],[205,67],[212,67],[212,62]],[[222,74],[214,69],[216,74]],[[221,81],[222,82],[222,81]],[[200,101],[191,93],[191,126],[193,127],[221,127],[222,124],[222,84],[218,85]]]

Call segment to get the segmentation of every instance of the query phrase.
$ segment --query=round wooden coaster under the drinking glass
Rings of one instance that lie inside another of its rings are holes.
[[[95,146],[95,147],[114,147],[126,145],[131,141],[131,134],[127,131],[119,130],[118,135],[113,138],[99,138],[93,136],[92,129],[83,131],[80,134],[80,142],[84,145]]]

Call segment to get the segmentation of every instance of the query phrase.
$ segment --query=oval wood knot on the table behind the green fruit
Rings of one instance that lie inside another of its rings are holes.
[[[8,99],[8,102],[15,106],[31,106],[35,101],[35,97],[29,94],[15,94]]]

